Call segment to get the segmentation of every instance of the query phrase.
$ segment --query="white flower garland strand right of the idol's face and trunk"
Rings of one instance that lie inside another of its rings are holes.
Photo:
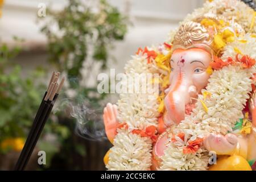
[[[255,48],[256,39],[245,35],[243,40],[237,38],[225,48],[222,59],[231,56],[236,59],[234,47],[240,49],[253,59],[256,59]],[[255,65],[249,69],[243,69],[240,66],[224,67],[221,70],[214,71],[209,78],[209,84],[202,93],[210,93],[210,99],[204,101],[208,112],[200,100],[204,100],[202,95],[196,103],[193,113],[185,117],[174,130],[174,134],[184,133],[186,140],[195,140],[197,137],[203,138],[209,133],[223,134],[232,131],[232,127],[242,118],[242,110],[249,98],[251,92],[251,79],[256,72]],[[168,144],[168,148],[162,156],[161,170],[205,170],[208,166],[208,153],[201,147],[196,154],[183,154],[183,147],[187,141],[180,145],[177,143]]]

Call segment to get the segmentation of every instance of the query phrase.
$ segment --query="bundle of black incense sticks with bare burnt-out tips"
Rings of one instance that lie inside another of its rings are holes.
[[[36,143],[38,142],[44,125],[46,124],[49,114],[51,113],[52,107],[55,104],[55,101],[59,96],[59,92],[64,84],[64,77],[61,79],[60,84],[57,83],[57,81],[59,80],[59,76],[60,72],[52,73],[48,89],[46,93],[44,93],[43,100],[39,106],[38,112],[36,113],[30,133],[28,134],[26,143],[24,144],[22,152],[19,155],[19,159],[16,163],[14,170],[22,171],[30,160],[30,156],[36,146]]]

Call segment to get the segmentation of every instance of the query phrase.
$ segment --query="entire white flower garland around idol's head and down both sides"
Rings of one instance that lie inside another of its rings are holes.
[[[225,8],[224,8],[225,7]],[[239,9],[237,8],[239,7]],[[230,21],[230,17],[236,16],[236,22],[245,27],[245,31],[251,29],[249,20],[253,20],[251,9],[244,3],[236,0],[215,0],[206,2],[204,7],[195,10],[188,15],[183,22],[193,20],[216,9],[218,16]],[[241,11],[242,10],[242,11]],[[237,14],[240,14],[238,17]],[[255,19],[256,20],[256,19]],[[183,23],[181,22],[181,23]],[[171,43],[177,30],[170,33],[168,42]],[[255,26],[250,30],[256,32]],[[236,47],[243,54],[256,59],[256,42],[251,34],[246,34],[243,40],[237,38],[224,48],[222,60],[232,57],[236,59]],[[158,73],[158,68],[152,63],[147,63],[147,55],[136,55],[125,66],[125,73],[131,74],[135,79],[135,73]],[[162,157],[162,170],[205,170],[208,166],[207,151],[201,147],[196,154],[183,154],[183,147],[188,139],[194,140],[197,137],[204,137],[209,133],[226,134],[242,117],[243,105],[249,98],[251,91],[252,73],[255,73],[255,66],[250,69],[242,69],[238,66],[229,65],[219,71],[214,71],[209,79],[206,90],[210,99],[204,101],[208,112],[199,102],[203,96],[199,96],[193,113],[185,117],[184,121],[174,130],[174,134],[185,133],[183,144],[170,143]],[[151,166],[152,142],[147,137],[132,134],[134,129],[144,130],[148,126],[156,126],[158,123],[158,93],[152,94],[120,94],[118,101],[119,121],[126,122],[128,129],[118,129],[114,139],[114,146],[110,150],[109,162],[106,167],[109,170],[149,170]]]

